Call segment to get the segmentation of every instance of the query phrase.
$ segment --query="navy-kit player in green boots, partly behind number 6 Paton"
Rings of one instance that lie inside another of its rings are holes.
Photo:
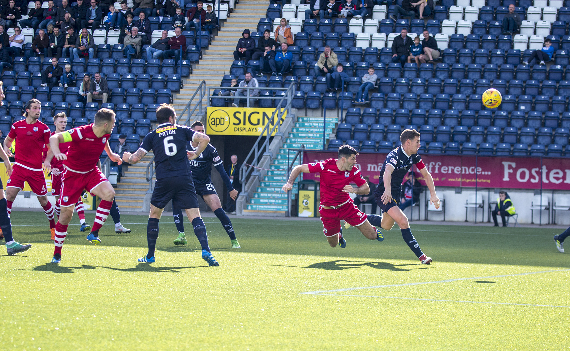
[[[200,121],[195,121],[190,128],[196,130],[196,132],[204,132],[204,125]],[[196,151],[197,148],[197,142],[188,142],[188,150]],[[227,176],[226,170],[223,169],[222,160],[219,158],[217,150],[210,144],[200,153],[200,156],[194,160],[190,160],[190,169],[192,169],[192,178],[194,179],[196,194],[202,197],[203,201],[210,206],[210,209],[214,211],[214,214],[222,223],[227,235],[230,236],[231,247],[240,248],[241,246],[239,246],[238,239],[235,238],[235,232],[231,225],[230,218],[227,217],[227,214],[223,211],[218,193],[216,193],[214,184],[211,182],[210,174],[212,164],[215,169],[218,170],[219,175],[230,191],[230,197],[234,200],[238,197],[238,191],[234,190],[234,187],[231,186],[230,177]],[[184,245],[187,241],[184,234],[184,217],[182,216],[182,210],[173,206],[172,214],[174,216],[174,223],[176,223],[176,228],[178,229],[178,238],[174,239],[174,244]]]

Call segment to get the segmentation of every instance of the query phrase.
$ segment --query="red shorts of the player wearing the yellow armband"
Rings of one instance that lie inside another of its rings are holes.
[[[97,167],[85,174],[72,172],[66,168],[62,173],[62,197],[59,199],[60,206],[75,206],[83,190],[92,193],[93,189],[103,182],[108,182],[108,180]]]

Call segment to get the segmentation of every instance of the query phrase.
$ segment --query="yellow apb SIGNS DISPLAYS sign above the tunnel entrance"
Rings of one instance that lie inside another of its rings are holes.
[[[271,120],[274,108],[220,108],[209,107],[207,109],[207,134],[217,135],[253,135],[261,134],[267,121]],[[283,115],[279,124],[283,123]],[[274,117],[276,120],[277,117]],[[271,121],[271,126],[275,121]],[[275,129],[275,132],[277,129]],[[275,135],[275,132],[271,135]]]

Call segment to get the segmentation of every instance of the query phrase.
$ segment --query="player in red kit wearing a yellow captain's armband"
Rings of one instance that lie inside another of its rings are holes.
[[[115,190],[97,167],[97,162],[103,150],[107,152],[111,161],[118,164],[123,162],[121,157],[113,153],[109,147],[113,126],[115,126],[115,112],[102,108],[95,113],[95,123],[78,126],[50,137],[54,158],[63,161],[64,168],[60,198],[61,214],[55,226],[55,250],[51,262],[59,263],[62,259],[67,226],[71,222],[75,203],[78,202],[83,190],[101,199],[91,233],[87,236],[89,242],[101,243],[99,229],[107,220],[115,198]],[[67,154],[62,153],[59,148],[60,144],[66,142],[69,143]]]

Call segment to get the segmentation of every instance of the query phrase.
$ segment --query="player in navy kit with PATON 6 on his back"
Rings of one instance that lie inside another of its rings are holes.
[[[154,247],[158,238],[158,220],[164,206],[172,201],[174,207],[186,209],[186,215],[194,227],[194,234],[202,246],[202,258],[210,266],[219,266],[208,246],[206,226],[200,218],[198,197],[194,190],[192,172],[188,162],[200,156],[200,153],[206,149],[210,138],[206,134],[194,132],[187,126],[176,125],[176,111],[168,104],[161,104],[156,109],[156,119],[159,125],[146,134],[140,148],[134,154],[130,152],[123,154],[123,161],[133,165],[150,150],[154,152],[156,183],[150,199],[150,215],[146,227],[148,254],[139,258],[139,262],[155,262]],[[195,152],[186,150],[186,143],[190,140],[198,143]]]

